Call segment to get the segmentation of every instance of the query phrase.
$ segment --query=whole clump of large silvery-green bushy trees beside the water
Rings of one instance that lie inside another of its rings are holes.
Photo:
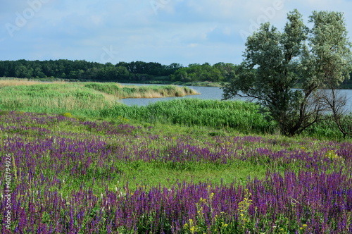
[[[321,121],[327,106],[317,90],[325,87],[327,78],[334,84],[347,78],[351,44],[341,13],[313,12],[312,30],[304,25],[297,10],[287,19],[284,32],[264,23],[248,37],[244,61],[223,87],[223,99],[256,99],[284,135],[295,135]],[[294,90],[298,83],[302,88]]]

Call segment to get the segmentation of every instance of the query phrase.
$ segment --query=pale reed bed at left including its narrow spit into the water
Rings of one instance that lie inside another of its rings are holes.
[[[111,109],[118,99],[182,97],[198,92],[175,85],[133,86],[98,82],[37,82],[0,80],[0,108],[37,113],[75,112],[94,116],[94,111]]]

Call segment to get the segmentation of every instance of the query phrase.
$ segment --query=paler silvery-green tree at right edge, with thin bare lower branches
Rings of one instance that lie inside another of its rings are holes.
[[[329,108],[332,120],[346,137],[351,134],[352,126],[346,123],[346,94],[341,94],[337,88],[350,77],[352,62],[351,42],[343,19],[342,13],[313,12],[310,16],[310,22],[315,23],[309,44],[311,53],[305,54],[303,66],[308,78],[320,78],[320,88],[324,90],[318,92],[318,97]]]

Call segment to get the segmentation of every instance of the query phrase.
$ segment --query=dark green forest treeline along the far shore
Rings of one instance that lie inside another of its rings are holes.
[[[194,63],[184,67],[180,63],[132,61],[96,63],[67,59],[49,61],[0,61],[0,77],[27,79],[62,79],[80,81],[209,81],[226,82],[236,72],[232,63]]]

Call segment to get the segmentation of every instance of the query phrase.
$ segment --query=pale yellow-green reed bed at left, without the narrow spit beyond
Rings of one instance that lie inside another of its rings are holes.
[[[1,109],[58,113],[94,112],[113,106],[115,97],[75,84],[33,84],[0,89]]]

